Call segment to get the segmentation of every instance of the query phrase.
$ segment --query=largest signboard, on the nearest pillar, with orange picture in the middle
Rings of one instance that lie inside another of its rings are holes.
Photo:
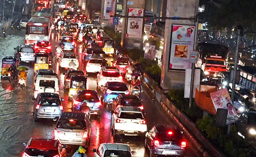
[[[195,26],[172,25],[169,69],[191,69],[190,52],[193,51]]]

